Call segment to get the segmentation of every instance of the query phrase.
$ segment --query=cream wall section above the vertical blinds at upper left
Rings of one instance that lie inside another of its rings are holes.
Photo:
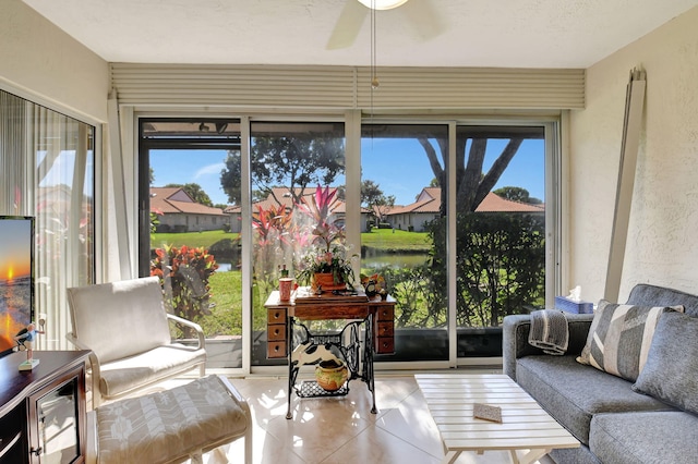
[[[84,122],[107,121],[107,62],[21,0],[0,7],[0,88]]]

